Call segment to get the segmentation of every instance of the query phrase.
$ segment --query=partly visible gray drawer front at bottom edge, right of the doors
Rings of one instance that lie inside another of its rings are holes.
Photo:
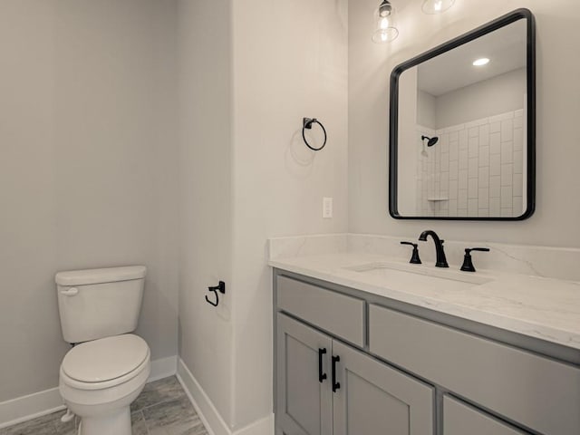
[[[506,423],[490,417],[485,412],[453,399],[443,398],[443,435],[529,435]]]

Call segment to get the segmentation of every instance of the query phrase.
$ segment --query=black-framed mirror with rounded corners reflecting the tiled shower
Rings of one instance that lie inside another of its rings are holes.
[[[391,73],[393,218],[521,220],[535,208],[535,26],[527,9]]]

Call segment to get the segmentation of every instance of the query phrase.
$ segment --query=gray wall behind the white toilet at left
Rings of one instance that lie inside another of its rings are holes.
[[[58,385],[54,273],[142,264],[177,353],[173,2],[0,2],[0,401]]]

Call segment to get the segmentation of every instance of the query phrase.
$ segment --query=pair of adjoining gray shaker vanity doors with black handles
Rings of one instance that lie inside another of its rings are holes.
[[[285,314],[276,317],[276,434],[433,433],[432,387]],[[326,351],[321,365],[319,350]],[[340,357],[334,392],[333,356]]]

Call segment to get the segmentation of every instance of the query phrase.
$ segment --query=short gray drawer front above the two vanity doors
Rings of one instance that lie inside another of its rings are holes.
[[[364,301],[285,276],[276,279],[277,307],[364,346]]]

